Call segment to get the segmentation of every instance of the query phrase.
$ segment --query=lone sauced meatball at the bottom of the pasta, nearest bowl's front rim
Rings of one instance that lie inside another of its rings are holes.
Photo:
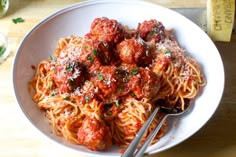
[[[91,150],[104,150],[112,145],[111,132],[103,121],[86,117],[77,132],[78,143]]]

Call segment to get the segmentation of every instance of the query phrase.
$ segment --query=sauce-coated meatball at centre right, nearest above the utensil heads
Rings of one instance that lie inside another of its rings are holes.
[[[137,98],[153,98],[160,88],[160,77],[147,68],[135,68],[128,86]]]

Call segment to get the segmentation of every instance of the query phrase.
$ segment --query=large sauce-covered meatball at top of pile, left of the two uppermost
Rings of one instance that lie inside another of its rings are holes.
[[[92,22],[90,35],[97,41],[118,43],[124,38],[124,30],[116,20],[101,17]]]

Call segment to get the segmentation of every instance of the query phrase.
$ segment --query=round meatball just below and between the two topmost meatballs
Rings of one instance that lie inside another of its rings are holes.
[[[118,46],[117,51],[120,59],[124,63],[137,65],[149,64],[151,63],[151,55],[145,48],[142,41],[131,38],[123,40]]]

